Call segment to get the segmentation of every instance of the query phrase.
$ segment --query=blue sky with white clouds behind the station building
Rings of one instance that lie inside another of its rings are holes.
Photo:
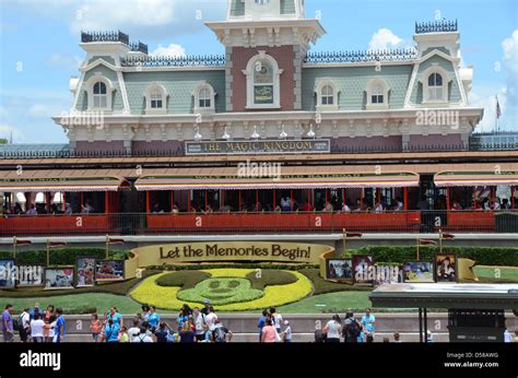
[[[311,51],[413,45],[414,23],[458,20],[463,66],[473,66],[470,106],[484,107],[478,131],[518,131],[518,1],[306,0],[327,35]],[[70,76],[85,52],[81,31],[120,29],[156,55],[223,54],[204,26],[226,17],[226,0],[0,0],[0,138],[64,143],[51,116],[72,103]]]

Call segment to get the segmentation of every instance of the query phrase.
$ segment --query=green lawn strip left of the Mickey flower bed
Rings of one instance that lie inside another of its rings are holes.
[[[39,306],[43,308],[46,308],[47,305],[61,307],[63,308],[66,314],[69,312],[70,309],[85,307],[95,307],[98,314],[104,314],[108,311],[111,306],[116,306],[121,314],[127,315],[132,315],[141,311],[140,304],[138,304],[130,297],[105,293],[57,295],[34,298],[0,297],[0,305],[2,306],[2,308],[4,308],[8,303],[14,305],[15,312],[21,312],[24,307],[33,308],[35,303],[39,303]]]

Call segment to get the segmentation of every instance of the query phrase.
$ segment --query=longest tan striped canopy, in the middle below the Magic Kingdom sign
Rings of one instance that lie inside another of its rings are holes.
[[[256,170],[254,170],[256,169]],[[373,167],[352,169],[340,166],[306,167],[228,167],[155,169],[136,181],[140,191],[191,189],[327,189],[327,188],[404,188],[417,187],[419,175],[412,172],[385,172]]]

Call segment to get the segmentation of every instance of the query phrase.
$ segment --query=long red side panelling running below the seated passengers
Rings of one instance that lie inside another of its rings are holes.
[[[518,211],[127,213],[9,215],[0,237],[73,235],[511,233]]]

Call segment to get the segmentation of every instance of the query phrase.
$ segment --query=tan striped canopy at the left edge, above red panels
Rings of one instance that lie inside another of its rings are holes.
[[[128,186],[119,176],[83,169],[13,170],[0,178],[0,192],[117,191]]]

